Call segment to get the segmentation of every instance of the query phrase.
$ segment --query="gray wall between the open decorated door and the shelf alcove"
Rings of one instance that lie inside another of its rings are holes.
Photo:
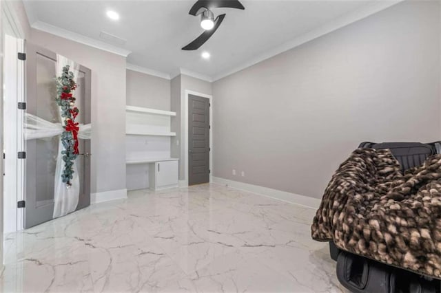
[[[92,193],[125,189],[125,57],[34,29],[28,41],[92,69]]]

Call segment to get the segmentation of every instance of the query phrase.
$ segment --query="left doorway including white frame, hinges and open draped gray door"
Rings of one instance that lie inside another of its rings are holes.
[[[91,71],[32,43],[24,46],[14,36],[6,35],[5,41],[3,232],[9,233],[90,205]],[[56,79],[66,65],[76,83],[70,105],[79,109],[68,119],[78,123],[74,140],[80,151],[72,159],[69,184],[61,182],[61,134],[68,120],[57,105]]]

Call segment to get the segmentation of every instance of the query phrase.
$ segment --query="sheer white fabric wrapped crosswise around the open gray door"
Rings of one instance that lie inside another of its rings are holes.
[[[63,67],[70,65],[70,71],[74,73],[75,78],[79,75],[79,64],[74,61],[57,54],[57,76],[63,74]],[[75,96],[75,93],[72,93]],[[54,102],[56,102],[54,100]],[[81,111],[81,109],[79,109]],[[61,110],[59,111],[59,121],[62,121]],[[61,122],[52,123],[42,118],[34,116],[30,113],[25,114],[25,140],[35,140],[41,138],[51,138],[56,135],[61,135],[64,129],[61,126]],[[79,124],[78,137],[83,140],[90,140],[92,127],[90,124]],[[59,138],[59,152],[57,156],[57,164],[55,169],[54,178],[54,214],[53,217],[61,217],[72,213],[79,202],[80,192],[80,180],[78,170],[76,168],[76,162],[73,164],[73,178],[70,180],[71,186],[63,183],[61,180],[61,174],[64,169],[63,144],[61,143],[61,137]]]

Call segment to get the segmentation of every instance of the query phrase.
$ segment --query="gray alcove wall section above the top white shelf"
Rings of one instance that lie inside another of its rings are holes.
[[[127,69],[127,105],[170,111],[170,80]]]

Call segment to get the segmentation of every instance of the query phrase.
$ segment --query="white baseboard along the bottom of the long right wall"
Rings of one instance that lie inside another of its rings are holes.
[[[286,191],[278,191],[277,189],[267,188],[263,186],[247,184],[243,182],[228,180],[220,177],[212,177],[213,183],[227,185],[232,188],[239,189],[241,191],[248,191],[250,193],[256,193],[257,195],[263,195],[265,197],[271,197],[281,200],[283,202],[289,202],[290,204],[298,204],[299,206],[305,206],[307,208],[317,209],[320,206],[320,199],[314,197],[307,197],[305,195],[297,195],[295,193],[288,193]]]

